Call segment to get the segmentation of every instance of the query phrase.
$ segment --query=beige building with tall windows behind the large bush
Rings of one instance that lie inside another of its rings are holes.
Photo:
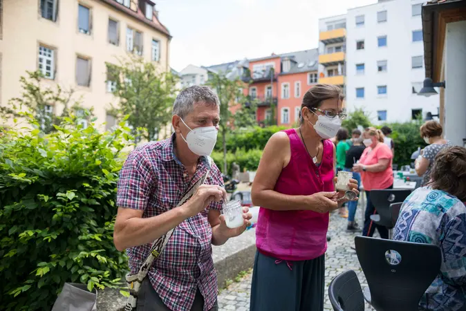
[[[44,84],[74,89],[109,128],[107,64],[134,54],[168,71],[170,39],[151,0],[0,0],[0,104],[21,95],[26,70],[39,69]]]

